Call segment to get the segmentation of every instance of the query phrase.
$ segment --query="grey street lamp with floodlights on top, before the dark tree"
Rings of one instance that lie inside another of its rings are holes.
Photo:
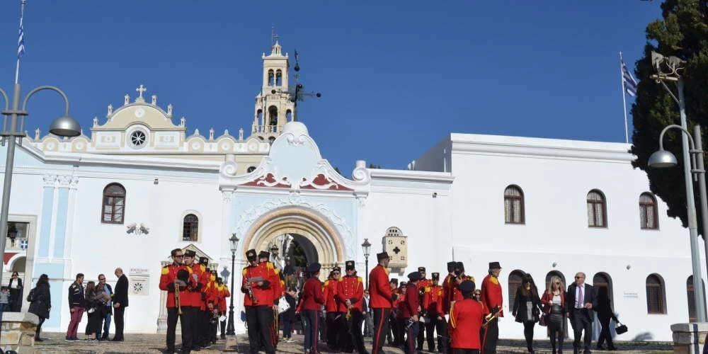
[[[683,147],[683,170],[685,171],[684,173],[684,178],[685,178],[685,185],[686,185],[686,209],[687,209],[687,214],[688,214],[688,229],[690,232],[690,242],[691,242],[691,265],[693,268],[693,289],[694,289],[694,295],[695,295],[695,302],[696,302],[696,320],[698,322],[705,322],[706,321],[706,312],[705,312],[705,299],[704,299],[704,294],[703,294],[703,287],[702,287],[702,277],[701,277],[701,268],[700,268],[700,251],[698,251],[698,222],[697,222],[697,217],[696,217],[696,204],[695,204],[695,199],[694,199],[694,193],[693,193],[693,181],[691,181],[691,175],[692,173],[696,173],[697,176],[699,177],[699,188],[701,190],[701,198],[702,198],[702,210],[704,209],[703,205],[705,205],[704,198],[705,198],[705,178],[704,178],[704,171],[702,169],[702,164],[703,164],[703,152],[701,150],[695,149],[695,144],[693,142],[693,139],[691,139],[690,132],[688,132],[687,129],[687,120],[686,120],[686,105],[685,105],[685,97],[683,94],[683,77],[679,74],[680,70],[683,70],[683,64],[685,62],[678,58],[678,57],[664,57],[661,54],[658,54],[657,52],[651,52],[651,65],[656,69],[656,74],[651,75],[651,79],[656,80],[657,83],[660,83],[664,86],[664,89],[668,91],[668,93],[671,95],[671,97],[678,103],[678,108],[680,112],[680,117],[681,117],[681,125],[669,125],[668,127],[665,127],[661,131],[661,135],[659,135],[659,151],[654,152],[649,156],[649,161],[648,164],[650,167],[657,167],[657,168],[666,168],[669,166],[675,166],[677,164],[675,156],[671,154],[670,152],[666,152],[666,150],[663,149],[663,135],[666,132],[666,130],[672,129],[672,128],[678,128],[680,129],[683,133],[681,137],[681,142],[682,142],[682,147]],[[666,70],[666,71],[665,71]],[[675,82],[676,86],[678,88],[678,98],[674,96],[673,92],[668,88],[666,85],[665,81],[670,81],[670,82]],[[699,128],[700,131],[700,128]],[[689,150],[689,139],[691,146],[693,147],[691,150]],[[699,135],[700,139],[700,135]],[[691,169],[691,161],[692,161],[692,156],[691,154],[697,154],[699,158],[701,159],[700,161],[700,171],[699,169],[692,170]],[[673,158],[673,159],[672,159]],[[705,227],[708,224],[707,218],[708,215],[703,214],[703,226]],[[707,229],[704,229],[704,233],[707,232]],[[708,250],[708,243],[705,244],[705,247]]]

